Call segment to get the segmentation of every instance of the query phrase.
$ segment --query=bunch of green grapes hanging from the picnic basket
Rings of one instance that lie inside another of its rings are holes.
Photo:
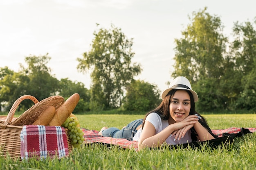
[[[84,133],[82,131],[82,129],[80,129],[79,126],[77,126],[79,124],[79,121],[74,118],[67,118],[67,120],[61,125],[64,128],[68,129],[68,135],[69,138],[71,139],[71,144],[72,146],[74,146],[74,148],[80,148],[81,144],[84,141]]]

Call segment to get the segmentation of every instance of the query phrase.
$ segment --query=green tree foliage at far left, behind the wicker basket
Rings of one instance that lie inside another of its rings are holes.
[[[0,68],[1,106],[5,107],[8,111],[20,96],[31,95],[40,101],[58,94],[59,91],[63,92],[59,81],[51,75],[51,69],[47,66],[49,60],[50,57],[47,54],[38,57],[29,56],[25,57],[26,67],[20,64],[19,72],[14,72],[8,67]],[[74,87],[70,86],[70,91],[72,91],[72,88]],[[78,89],[76,88],[73,91],[77,91]],[[25,111],[32,105],[34,103],[31,100],[23,100],[17,110],[22,109],[22,111]]]

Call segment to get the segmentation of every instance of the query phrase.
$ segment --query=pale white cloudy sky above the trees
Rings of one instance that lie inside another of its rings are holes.
[[[90,88],[76,58],[90,50],[96,23],[114,24],[133,38],[133,61],[143,69],[138,79],[162,91],[171,80],[174,39],[190,24],[188,15],[204,7],[220,17],[226,36],[234,22],[256,17],[255,0],[0,0],[0,67],[18,71],[25,57],[48,52],[56,78]]]

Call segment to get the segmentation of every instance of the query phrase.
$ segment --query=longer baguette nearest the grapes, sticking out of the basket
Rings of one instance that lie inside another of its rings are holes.
[[[70,96],[56,111],[49,122],[49,126],[61,126],[65,120],[70,116],[72,111],[74,111],[77,103],[79,102],[80,96],[78,93]]]

